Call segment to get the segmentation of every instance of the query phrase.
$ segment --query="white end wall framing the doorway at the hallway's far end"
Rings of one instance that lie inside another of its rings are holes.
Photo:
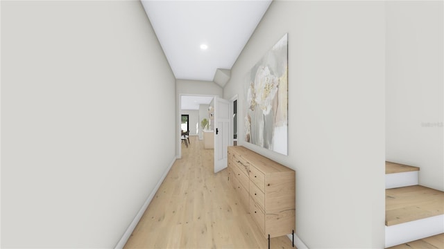
[[[200,80],[176,80],[176,155],[180,157],[180,96],[181,95],[211,95],[222,97],[221,86],[214,82]]]

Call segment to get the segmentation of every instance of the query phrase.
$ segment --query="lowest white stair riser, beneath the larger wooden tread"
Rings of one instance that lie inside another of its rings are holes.
[[[444,214],[386,226],[386,248],[444,232]]]

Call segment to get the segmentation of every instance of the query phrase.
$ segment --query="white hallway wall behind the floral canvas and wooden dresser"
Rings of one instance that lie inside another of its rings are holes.
[[[289,34],[289,156],[246,143],[242,84]],[[384,3],[273,1],[231,71],[239,144],[296,170],[309,248],[384,248]],[[289,231],[291,233],[291,231]]]

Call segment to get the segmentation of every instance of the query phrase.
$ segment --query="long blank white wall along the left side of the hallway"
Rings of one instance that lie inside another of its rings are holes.
[[[175,159],[175,81],[139,1],[2,1],[1,247],[116,246]]]

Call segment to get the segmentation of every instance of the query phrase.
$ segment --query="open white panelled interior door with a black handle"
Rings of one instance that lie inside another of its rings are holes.
[[[214,97],[214,173],[228,166],[230,127],[230,102]]]

